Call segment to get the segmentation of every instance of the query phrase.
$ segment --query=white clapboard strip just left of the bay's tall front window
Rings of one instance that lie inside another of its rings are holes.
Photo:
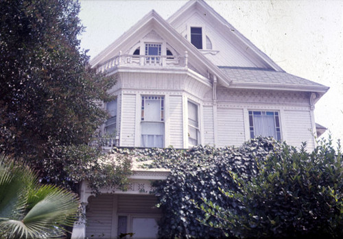
[[[123,94],[121,117],[120,146],[134,147],[136,95]]]

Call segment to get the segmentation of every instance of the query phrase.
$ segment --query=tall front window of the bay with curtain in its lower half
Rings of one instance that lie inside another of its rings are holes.
[[[141,147],[164,147],[164,97],[142,96]]]

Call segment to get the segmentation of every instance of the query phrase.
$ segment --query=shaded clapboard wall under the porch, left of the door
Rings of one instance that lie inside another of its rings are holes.
[[[113,195],[102,194],[88,199],[86,238],[110,238],[113,218]]]

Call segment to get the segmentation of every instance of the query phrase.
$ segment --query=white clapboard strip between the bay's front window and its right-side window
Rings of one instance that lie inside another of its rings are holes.
[[[174,148],[182,148],[182,138],[182,96],[171,95],[169,97],[169,143]]]

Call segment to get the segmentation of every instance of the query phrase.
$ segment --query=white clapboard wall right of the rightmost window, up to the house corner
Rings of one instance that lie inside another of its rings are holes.
[[[311,114],[309,111],[285,110],[285,134],[288,144],[300,147],[302,142],[307,142],[307,149],[314,149],[314,132],[312,131]],[[281,118],[283,121],[283,118]]]

